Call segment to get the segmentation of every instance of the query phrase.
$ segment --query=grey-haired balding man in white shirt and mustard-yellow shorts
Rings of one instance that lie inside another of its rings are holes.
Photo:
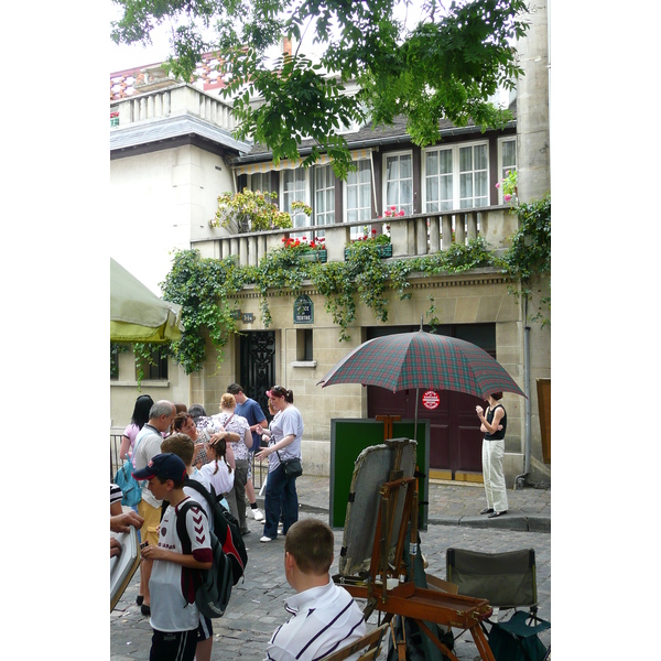
[[[155,402],[149,411],[149,422],[136,436],[133,446],[134,470],[142,470],[151,459],[161,454],[163,432],[166,432],[176,415],[174,404],[167,400]],[[144,519],[141,528],[141,540],[152,546],[159,544],[159,524],[161,522],[161,505],[149,490],[147,481],[142,485],[142,498],[138,503],[138,513]],[[140,563],[140,589],[138,593],[138,605],[142,615],[151,615],[151,602],[149,596],[149,578],[151,576],[152,561],[143,559]]]

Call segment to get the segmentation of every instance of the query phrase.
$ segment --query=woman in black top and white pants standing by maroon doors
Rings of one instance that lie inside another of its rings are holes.
[[[483,441],[483,475],[487,507],[479,512],[489,514],[489,519],[507,513],[507,489],[505,487],[505,473],[502,457],[505,456],[505,432],[507,431],[507,412],[502,404],[502,392],[492,392],[487,398],[486,414],[481,407],[475,407],[480,421],[480,432],[485,432]]]

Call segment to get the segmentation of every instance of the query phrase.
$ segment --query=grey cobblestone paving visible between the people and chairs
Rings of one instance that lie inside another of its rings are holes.
[[[296,481],[301,518],[328,521],[328,478],[302,476]],[[429,525],[421,531],[421,546],[427,573],[445,578],[445,552],[458,546],[490,553],[532,548],[538,565],[539,615],[551,619],[551,490],[525,488],[508,491],[510,509],[497,520],[479,517],[485,507],[484,488],[473,485],[437,483],[430,485]],[[215,642],[212,660],[245,659],[261,661],[273,629],[288,619],[283,599],[292,594],[284,578],[283,538],[261,544],[262,524],[249,518],[250,534],[245,537],[248,570],[245,582],[232,589],[230,606],[223,618],[214,620]],[[335,556],[339,556],[343,531],[335,530]],[[337,560],[330,568],[337,573]],[[139,571],[110,614],[111,660],[149,659],[151,628],[149,618],[136,605]],[[361,604],[362,606],[362,604]],[[368,628],[377,625],[372,614]],[[542,636],[545,644],[551,632]],[[473,661],[477,649],[464,633],[455,653]],[[382,652],[379,659],[386,659]]]

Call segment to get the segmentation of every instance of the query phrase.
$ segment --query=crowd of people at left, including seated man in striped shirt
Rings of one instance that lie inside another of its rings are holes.
[[[285,537],[285,576],[296,592],[285,608],[294,615],[275,629],[266,651],[268,659],[289,659],[292,647],[304,650],[297,657],[302,660],[322,658],[365,633],[360,609],[328,573],[333,531],[315,519],[299,521],[296,478],[285,475],[283,464],[301,459],[303,418],[293,404],[293,392],[274,386],[267,395],[270,423],[238,383],[228,387],[214,415],[207,415],[201,404],[154,402],[149,394],[136,401],[120,457],[131,463],[133,478],[141,480],[141,499],[127,511],[121,507],[121,489],[111,485],[110,528],[115,532],[124,532],[129,525],[139,530],[137,603],[142,615],[150,616],[153,629],[150,659],[209,661],[212,655],[212,620],[182,587],[183,567],[209,568],[213,560],[208,534],[213,517],[198,489],[187,486],[191,480],[209,492],[213,489],[242,534],[250,532],[250,512],[256,521],[264,521],[260,542]],[[258,462],[269,462],[266,518],[252,484],[253,455]],[[196,501],[185,511],[186,530],[195,540],[191,553],[184,553],[175,525],[176,512],[187,499]],[[120,552],[120,544],[111,538],[111,557]],[[314,616],[308,605],[314,605]]]

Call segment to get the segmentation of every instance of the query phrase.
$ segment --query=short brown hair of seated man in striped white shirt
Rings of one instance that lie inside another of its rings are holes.
[[[301,519],[288,531],[284,551],[291,553],[304,574],[327,574],[333,564],[333,530],[318,519]]]

